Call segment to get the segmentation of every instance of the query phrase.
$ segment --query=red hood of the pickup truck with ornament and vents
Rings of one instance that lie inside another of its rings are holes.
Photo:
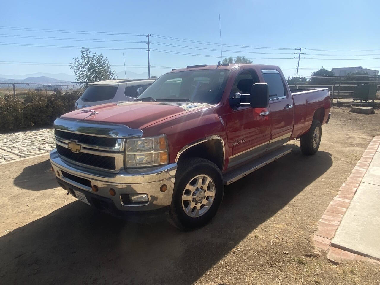
[[[61,118],[87,120],[94,122],[120,123],[130,128],[142,129],[153,123],[178,114],[199,109],[204,105],[183,102],[125,102],[108,103],[78,109],[61,116]],[[97,112],[94,114],[89,111]]]

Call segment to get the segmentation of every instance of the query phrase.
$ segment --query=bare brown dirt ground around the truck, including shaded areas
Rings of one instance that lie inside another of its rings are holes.
[[[2,284],[379,284],[379,266],[340,265],[309,235],[380,114],[331,109],[316,155],[293,152],[226,187],[212,222],[183,233],[101,214],[56,188],[47,155],[0,165]],[[378,112],[378,111],[377,111]]]

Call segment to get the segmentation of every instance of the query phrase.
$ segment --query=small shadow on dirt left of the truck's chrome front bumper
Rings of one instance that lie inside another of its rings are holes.
[[[57,180],[55,180],[55,176],[52,175],[50,168],[51,163],[49,159],[27,166],[13,180],[13,184],[19,188],[32,191],[56,188],[59,185],[57,184]],[[43,179],[41,179],[42,176]]]

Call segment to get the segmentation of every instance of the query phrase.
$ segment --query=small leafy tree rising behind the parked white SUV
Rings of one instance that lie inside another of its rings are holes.
[[[96,82],[101,80],[117,78],[116,71],[111,70],[108,59],[103,54],[93,52],[89,49],[81,49],[81,58],[75,57],[70,62],[70,69],[74,71],[78,82]],[[87,88],[87,86],[85,86]]]

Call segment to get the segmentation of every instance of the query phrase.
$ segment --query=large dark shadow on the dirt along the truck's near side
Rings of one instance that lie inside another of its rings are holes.
[[[217,216],[181,232],[169,223],[134,224],[80,201],[0,237],[4,284],[192,284],[258,225],[332,166],[331,154],[298,146],[226,187]]]

